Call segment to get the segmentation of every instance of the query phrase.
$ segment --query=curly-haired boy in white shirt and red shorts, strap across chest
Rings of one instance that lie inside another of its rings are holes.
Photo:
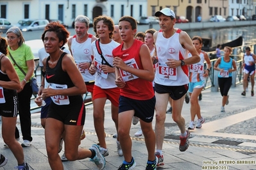
[[[112,50],[117,47],[119,43],[112,40],[113,31],[114,22],[110,17],[99,16],[94,18],[94,32],[99,40],[92,42],[92,56],[94,56],[94,61],[92,61],[89,72],[92,75],[96,73],[93,89],[94,96],[92,98],[92,104],[94,106],[94,128],[99,139],[99,150],[104,157],[108,156],[104,130],[104,107],[107,99],[111,102],[112,120],[115,123],[116,130],[118,129],[120,89],[115,85],[115,68],[113,66]],[[117,135],[116,144],[117,153],[121,157],[123,156],[123,151],[119,143],[119,135]]]

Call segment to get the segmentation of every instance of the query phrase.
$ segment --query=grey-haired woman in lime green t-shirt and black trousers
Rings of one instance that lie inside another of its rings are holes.
[[[30,79],[34,76],[35,61],[31,48],[24,42],[21,29],[19,27],[11,27],[6,32],[8,42],[8,58],[12,62],[15,71],[19,76],[21,82],[21,89],[17,90],[19,100],[19,118],[21,121],[21,132],[23,136],[23,147],[29,147],[31,145],[31,112],[30,101],[32,95],[32,88],[30,86]],[[11,57],[12,56],[12,57]],[[13,59],[15,60],[15,63]],[[22,73],[20,68],[26,73]]]

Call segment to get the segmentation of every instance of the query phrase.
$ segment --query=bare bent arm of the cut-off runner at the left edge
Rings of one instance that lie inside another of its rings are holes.
[[[3,54],[2,54],[3,55]],[[13,68],[13,65],[6,56],[1,60],[1,70],[5,72],[10,81],[0,81],[0,86],[6,89],[21,89],[21,83],[19,82],[19,77]]]

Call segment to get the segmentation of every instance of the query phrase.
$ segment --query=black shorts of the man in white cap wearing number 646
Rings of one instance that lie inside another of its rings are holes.
[[[189,89],[188,84],[184,84],[182,86],[164,86],[161,84],[155,83],[155,91],[157,93],[169,93],[170,97],[173,100],[179,100],[180,98],[187,93],[187,90]]]

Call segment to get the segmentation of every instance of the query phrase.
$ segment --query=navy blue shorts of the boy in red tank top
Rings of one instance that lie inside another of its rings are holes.
[[[134,110],[134,116],[142,121],[150,123],[153,120],[155,112],[155,96],[149,100],[135,100],[120,96],[119,113]]]

